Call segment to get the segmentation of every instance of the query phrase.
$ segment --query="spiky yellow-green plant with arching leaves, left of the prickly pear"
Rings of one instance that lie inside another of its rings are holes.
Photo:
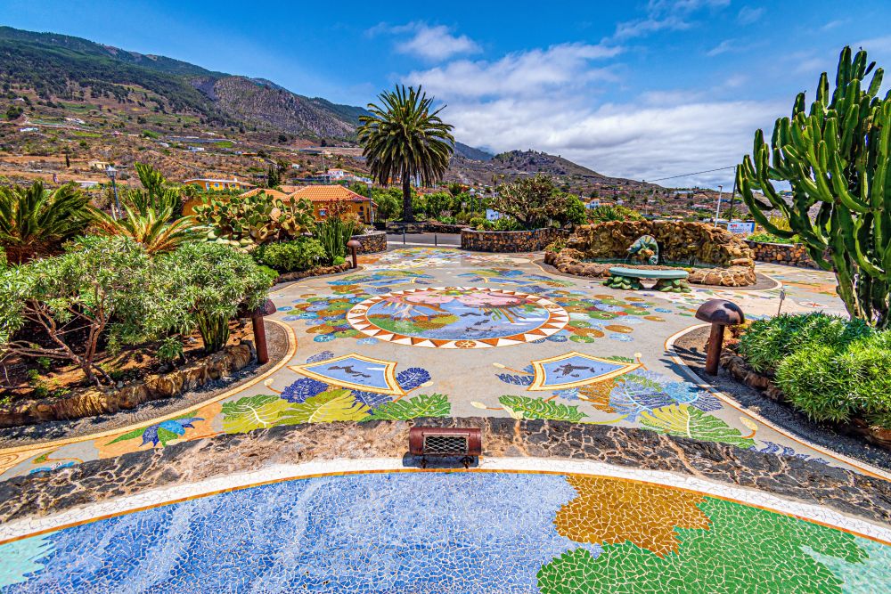
[[[124,207],[127,216],[115,219],[100,210],[93,211],[94,228],[102,235],[120,235],[141,243],[149,255],[172,251],[193,240],[202,239],[205,228],[193,216],[171,221],[170,207],[156,211],[146,208],[136,212]]]

